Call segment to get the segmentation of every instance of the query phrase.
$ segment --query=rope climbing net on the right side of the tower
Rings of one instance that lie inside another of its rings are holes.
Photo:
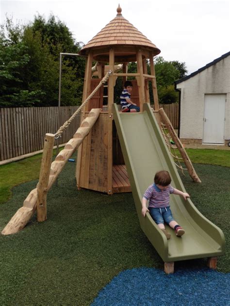
[[[169,152],[170,152],[170,154],[173,158],[173,161],[174,161],[175,165],[181,170],[183,176],[185,176],[184,170],[188,170],[188,169],[183,168],[182,165],[181,165],[181,162],[183,162],[183,158],[181,157],[181,154],[180,154],[177,146],[175,145],[174,141],[172,140],[171,135],[168,132],[166,126],[162,122],[161,122],[161,127],[162,127],[162,134],[163,134],[165,143],[166,143],[166,145],[169,149]]]

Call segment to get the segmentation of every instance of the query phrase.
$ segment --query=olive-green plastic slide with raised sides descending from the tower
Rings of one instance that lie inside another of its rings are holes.
[[[167,170],[171,185],[181,191],[185,189],[150,105],[144,104],[143,113],[121,113],[114,104],[113,117],[141,228],[164,262],[223,255],[223,232],[197,210],[192,199],[184,201],[179,195],[170,195],[173,216],[185,229],[182,237],[166,226],[171,233],[167,240],[149,213],[145,218],[142,216],[141,199],[157,171]]]

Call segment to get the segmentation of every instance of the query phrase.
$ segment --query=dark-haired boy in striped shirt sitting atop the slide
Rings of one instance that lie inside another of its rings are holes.
[[[131,90],[132,90],[132,82],[125,81],[124,90],[122,91],[120,96],[122,113],[140,112],[140,108],[136,106],[136,104],[133,103],[130,99]]]

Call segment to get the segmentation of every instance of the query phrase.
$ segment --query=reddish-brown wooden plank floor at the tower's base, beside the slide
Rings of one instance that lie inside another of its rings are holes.
[[[131,186],[125,165],[113,165],[113,193],[129,193]]]

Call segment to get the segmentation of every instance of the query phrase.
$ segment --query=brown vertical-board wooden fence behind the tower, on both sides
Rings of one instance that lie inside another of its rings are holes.
[[[164,108],[174,129],[178,129],[178,104],[161,107]],[[77,109],[77,106],[61,107],[60,126]],[[80,116],[77,116],[63,132],[60,144],[68,142],[79,126]],[[58,107],[1,108],[0,161],[42,150],[45,134],[55,134],[58,129]]]

